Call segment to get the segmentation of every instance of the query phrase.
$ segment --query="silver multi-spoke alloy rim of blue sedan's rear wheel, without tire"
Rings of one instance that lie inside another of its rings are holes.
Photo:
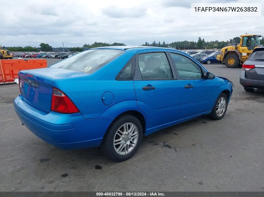
[[[137,126],[133,123],[125,123],[119,129],[114,137],[114,149],[119,155],[126,155],[137,145],[138,135]]]

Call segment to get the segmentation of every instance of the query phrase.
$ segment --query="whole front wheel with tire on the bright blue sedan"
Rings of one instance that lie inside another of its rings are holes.
[[[222,92],[217,97],[212,112],[209,114],[209,117],[213,120],[220,120],[224,117],[226,111],[227,111],[227,95]]]

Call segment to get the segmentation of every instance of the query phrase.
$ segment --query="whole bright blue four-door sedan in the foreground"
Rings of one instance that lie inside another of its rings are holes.
[[[233,91],[190,55],[158,47],[89,49],[18,76],[14,108],[32,133],[64,149],[100,146],[119,162],[144,135],[202,115],[222,119]]]

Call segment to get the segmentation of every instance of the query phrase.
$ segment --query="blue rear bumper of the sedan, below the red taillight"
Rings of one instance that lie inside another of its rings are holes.
[[[113,119],[85,119],[81,113],[46,113],[27,104],[21,96],[14,100],[21,122],[35,135],[63,149],[91,148],[100,145]]]

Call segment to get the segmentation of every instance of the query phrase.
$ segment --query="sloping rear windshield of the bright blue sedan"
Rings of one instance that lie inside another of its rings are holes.
[[[121,55],[124,51],[117,49],[91,49],[73,55],[58,63],[51,65],[51,68],[64,68],[83,73],[93,73],[108,62]]]

